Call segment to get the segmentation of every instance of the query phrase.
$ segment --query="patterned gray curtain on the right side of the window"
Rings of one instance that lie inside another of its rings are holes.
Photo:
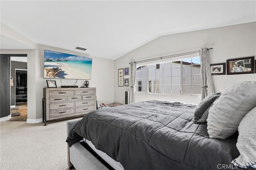
[[[210,67],[210,57],[207,48],[200,49],[200,61],[201,61],[201,100],[206,96],[214,93],[212,74]]]

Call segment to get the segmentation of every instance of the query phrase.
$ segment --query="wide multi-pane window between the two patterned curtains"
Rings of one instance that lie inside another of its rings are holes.
[[[200,94],[200,57],[138,65],[137,91],[164,94]]]

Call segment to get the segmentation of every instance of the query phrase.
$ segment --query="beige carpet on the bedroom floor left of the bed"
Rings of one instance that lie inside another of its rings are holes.
[[[0,170],[68,170],[66,120],[0,122]]]

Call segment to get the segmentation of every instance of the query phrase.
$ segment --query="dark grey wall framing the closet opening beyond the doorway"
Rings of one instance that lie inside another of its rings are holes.
[[[11,61],[11,76],[13,77],[13,86],[11,87],[11,106],[15,105],[15,69],[27,69],[26,62]]]

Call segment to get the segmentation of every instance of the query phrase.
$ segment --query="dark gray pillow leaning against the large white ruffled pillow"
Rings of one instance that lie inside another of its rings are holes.
[[[221,93],[214,93],[206,96],[196,107],[194,112],[194,123],[205,123],[208,112],[213,102],[220,97]]]

